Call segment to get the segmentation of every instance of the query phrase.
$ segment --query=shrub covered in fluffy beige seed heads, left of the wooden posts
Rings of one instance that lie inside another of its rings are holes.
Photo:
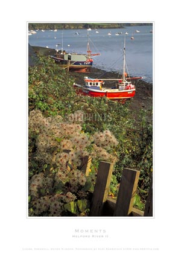
[[[84,133],[78,124],[82,116],[83,112],[77,111],[68,122],[58,115],[43,117],[40,110],[30,112],[31,216],[86,215],[96,172],[87,178],[78,170],[82,159],[90,155],[94,161],[116,162],[115,136],[109,130],[91,136]]]

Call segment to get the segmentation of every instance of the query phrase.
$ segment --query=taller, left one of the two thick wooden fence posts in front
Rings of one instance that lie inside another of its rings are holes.
[[[100,162],[97,181],[94,188],[90,216],[101,216],[104,202],[106,202],[109,192],[110,178],[113,171],[113,164],[110,162]]]

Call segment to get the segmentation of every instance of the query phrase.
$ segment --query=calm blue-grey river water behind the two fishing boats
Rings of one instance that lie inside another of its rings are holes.
[[[94,67],[105,71],[122,70],[125,37],[125,59],[131,76],[143,76],[147,82],[153,82],[153,34],[152,26],[127,27],[122,29],[100,30],[38,30],[28,36],[32,46],[62,49],[70,53],[86,53],[87,33],[89,45],[94,56]],[[136,32],[138,30],[139,32]],[[122,34],[116,35],[122,32]],[[128,34],[125,34],[125,33]],[[111,35],[109,35],[110,33]],[[131,37],[134,37],[132,40]]]

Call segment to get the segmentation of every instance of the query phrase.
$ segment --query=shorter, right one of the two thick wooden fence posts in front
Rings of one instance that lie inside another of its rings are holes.
[[[114,216],[128,216],[132,213],[139,173],[140,171],[127,168],[122,171]]]

